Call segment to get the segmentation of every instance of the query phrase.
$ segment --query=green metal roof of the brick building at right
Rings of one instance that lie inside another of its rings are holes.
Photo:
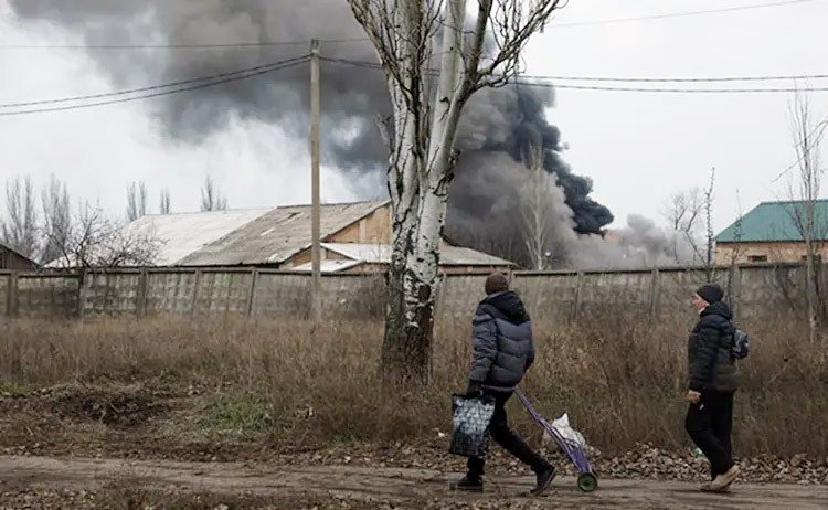
[[[828,200],[815,204],[814,238],[828,240]],[[805,211],[805,202],[762,202],[715,236],[718,243],[803,241],[796,217]]]

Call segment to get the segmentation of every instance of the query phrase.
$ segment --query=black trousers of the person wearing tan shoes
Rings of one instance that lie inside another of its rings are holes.
[[[684,428],[710,460],[711,479],[733,467],[733,393],[702,392],[699,403],[687,411]]]

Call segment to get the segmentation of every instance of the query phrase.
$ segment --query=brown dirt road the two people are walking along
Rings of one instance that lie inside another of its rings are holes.
[[[0,493],[14,489],[99,490],[107,485],[203,493],[278,497],[301,508],[305,498],[332,497],[376,507],[463,508],[491,500],[522,502],[518,508],[828,508],[828,487],[737,486],[733,493],[700,493],[692,484],[601,480],[591,495],[571,478],[560,478],[544,498],[530,498],[532,480],[503,477],[484,495],[447,490],[455,475],[434,470],[357,467],[278,467],[250,464],[130,461],[120,459],[0,456]],[[285,499],[289,498],[289,499]],[[2,507],[2,504],[0,504]],[[284,507],[288,508],[288,507]],[[514,508],[514,507],[512,507]]]

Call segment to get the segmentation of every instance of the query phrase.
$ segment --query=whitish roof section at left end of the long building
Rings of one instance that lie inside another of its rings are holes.
[[[129,224],[129,231],[158,240],[156,265],[177,265],[182,258],[221,238],[269,209],[149,214]]]

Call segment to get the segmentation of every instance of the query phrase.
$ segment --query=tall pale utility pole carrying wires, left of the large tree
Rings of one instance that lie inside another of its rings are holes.
[[[319,236],[321,211],[319,205],[319,41],[310,42],[310,195],[311,195],[311,253],[312,295],[311,315],[314,322],[322,320],[322,276],[321,246]]]

